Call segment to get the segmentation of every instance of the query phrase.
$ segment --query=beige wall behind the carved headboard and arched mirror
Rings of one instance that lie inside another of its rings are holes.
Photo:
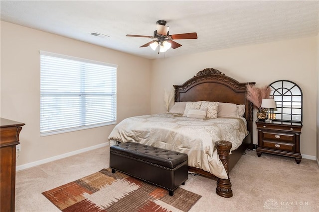
[[[256,82],[258,86],[280,79],[297,83],[304,94],[301,153],[316,155],[318,36],[154,60],[151,113],[165,111],[164,89],[182,84],[205,68],[217,69],[240,82]],[[257,143],[256,130],[253,133]]]

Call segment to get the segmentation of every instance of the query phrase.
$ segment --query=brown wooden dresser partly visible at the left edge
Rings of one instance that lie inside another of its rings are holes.
[[[8,119],[0,120],[0,211],[14,212],[15,145],[24,124]]]

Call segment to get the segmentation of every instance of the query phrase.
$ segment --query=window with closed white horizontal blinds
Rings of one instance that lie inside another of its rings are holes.
[[[40,51],[40,136],[116,123],[117,65]]]

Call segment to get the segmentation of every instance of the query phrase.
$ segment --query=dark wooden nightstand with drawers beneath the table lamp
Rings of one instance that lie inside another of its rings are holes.
[[[297,164],[301,162],[300,134],[301,123],[266,123],[256,122],[258,130],[258,157],[264,153],[294,157]]]

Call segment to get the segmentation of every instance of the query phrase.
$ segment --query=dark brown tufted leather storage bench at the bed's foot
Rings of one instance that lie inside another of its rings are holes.
[[[136,142],[110,147],[110,168],[160,186],[173,196],[188,179],[187,154]]]

